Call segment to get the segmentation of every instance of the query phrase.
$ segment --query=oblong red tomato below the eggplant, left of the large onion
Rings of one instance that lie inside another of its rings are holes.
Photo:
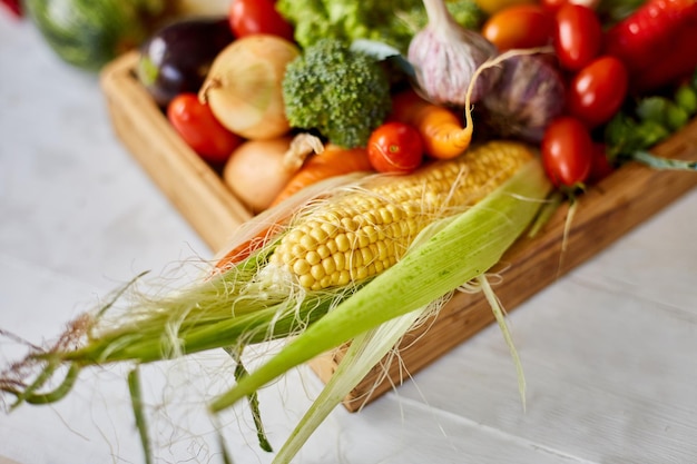
[[[167,106],[167,119],[184,141],[209,162],[225,162],[242,138],[213,116],[196,93],[180,93]]]

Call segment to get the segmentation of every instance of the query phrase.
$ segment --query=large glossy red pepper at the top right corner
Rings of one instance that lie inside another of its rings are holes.
[[[697,0],[647,0],[611,27],[605,51],[627,67],[635,91],[648,91],[697,68]]]

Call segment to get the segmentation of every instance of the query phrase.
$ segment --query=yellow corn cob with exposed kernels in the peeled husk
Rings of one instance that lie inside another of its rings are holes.
[[[323,203],[291,225],[265,273],[282,273],[311,290],[374,277],[424,227],[477,204],[533,156],[519,142],[489,142]]]

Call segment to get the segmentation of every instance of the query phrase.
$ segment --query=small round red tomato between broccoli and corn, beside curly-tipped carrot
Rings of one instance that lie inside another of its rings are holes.
[[[423,160],[423,140],[412,126],[385,122],[371,134],[367,158],[379,172],[411,172]]]

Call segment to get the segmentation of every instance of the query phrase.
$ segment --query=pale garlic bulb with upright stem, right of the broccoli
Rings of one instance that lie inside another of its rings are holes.
[[[429,23],[412,38],[408,52],[419,91],[433,103],[464,107],[474,71],[498,50],[479,32],[458,24],[443,0],[423,4]],[[474,82],[470,102],[489,91],[500,72],[498,67],[485,69]]]

